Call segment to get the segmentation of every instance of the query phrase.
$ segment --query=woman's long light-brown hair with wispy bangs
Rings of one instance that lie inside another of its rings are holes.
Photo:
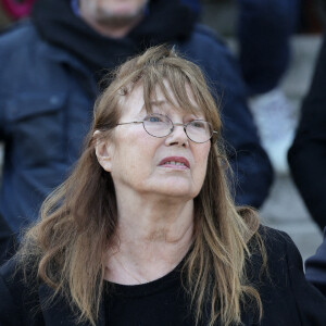
[[[70,177],[43,202],[40,220],[26,231],[17,253],[22,267],[34,264],[37,276],[54,294],[66,298],[77,322],[97,324],[104,256],[117,227],[113,180],[97,160],[96,142],[100,137],[113,137],[124,102],[136,86],[142,87],[145,108],[151,112],[158,87],[172,101],[166,85],[179,108],[196,112],[187,93],[186,86],[190,87],[197,106],[218,131],[211,140],[205,179],[195,198],[193,244],[181,268],[189,309],[196,324],[205,312],[209,325],[216,321],[226,326],[240,324],[247,300],[262,315],[260,294],[246,275],[252,251],[259,248],[264,253],[259,220],[250,208],[236,208],[229,193],[218,108],[201,70],[174,49],[160,46],[112,73],[109,87],[96,101],[79,160]]]

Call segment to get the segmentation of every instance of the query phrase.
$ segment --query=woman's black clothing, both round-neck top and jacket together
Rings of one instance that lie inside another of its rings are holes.
[[[264,231],[265,229],[265,231]],[[269,274],[261,275],[261,255],[252,254],[246,273],[259,290],[264,315],[256,322],[252,304],[242,309],[243,325],[325,326],[326,299],[304,277],[300,253],[286,234],[261,228],[268,256]],[[35,274],[28,283],[13,260],[0,268],[0,326],[74,326],[75,316],[62,297],[49,305],[53,290],[37,283]],[[179,278],[179,267],[166,276],[139,286],[115,285],[112,294],[104,294],[97,326],[193,326],[189,301]],[[106,283],[104,290],[112,284]],[[209,310],[204,308],[204,312]],[[206,312],[209,314],[209,312]],[[204,315],[199,326],[206,326]],[[90,326],[89,323],[78,326]],[[222,326],[215,323],[214,326]]]

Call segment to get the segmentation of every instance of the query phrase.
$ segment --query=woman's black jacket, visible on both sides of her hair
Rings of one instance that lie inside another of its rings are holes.
[[[269,275],[260,276],[262,260],[259,254],[251,256],[247,267],[247,274],[259,289],[263,303],[264,315],[260,325],[326,325],[326,299],[305,280],[302,260],[292,240],[286,234],[269,228],[262,236]],[[21,272],[13,277],[14,269],[14,261],[0,268],[1,326],[76,325],[63,298],[57,298],[54,303],[40,309],[40,304],[45,304],[53,293],[52,289],[43,283],[36,283],[35,276],[29,276],[27,284],[23,283]],[[98,325],[104,326],[104,319],[101,306]],[[242,311],[242,322],[244,325],[258,325],[254,319],[254,312],[249,305]]]

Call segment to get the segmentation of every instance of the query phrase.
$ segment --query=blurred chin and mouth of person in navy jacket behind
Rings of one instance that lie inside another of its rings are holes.
[[[99,25],[123,27],[133,25],[143,15],[149,0],[80,0],[82,15]]]

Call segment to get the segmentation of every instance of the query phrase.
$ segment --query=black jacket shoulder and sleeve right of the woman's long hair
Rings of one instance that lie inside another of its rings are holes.
[[[262,325],[276,325],[268,322],[274,315],[288,321],[281,325],[326,325],[326,299],[306,281],[302,258],[292,239],[266,226],[261,226],[258,235],[266,264],[263,265],[263,250],[255,250],[247,273],[260,290],[265,311]]]

